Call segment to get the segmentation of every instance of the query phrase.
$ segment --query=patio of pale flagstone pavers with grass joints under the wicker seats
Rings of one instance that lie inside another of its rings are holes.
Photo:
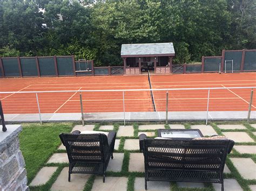
[[[170,124],[169,126],[171,129],[185,128],[183,124]],[[255,126],[256,124],[251,125],[249,129],[242,124],[190,126],[191,129],[200,129],[204,136],[217,135],[217,132],[221,132],[236,142],[233,152],[228,155],[229,162],[224,168],[225,190],[243,190],[243,186],[240,184],[248,180],[250,180],[250,184],[246,188],[256,190],[256,164],[254,161],[256,130],[252,131]],[[157,129],[164,128],[164,125],[140,125],[138,135],[145,133],[147,136],[154,137],[157,136],[155,135]],[[73,130],[79,131],[93,129],[95,129],[95,125],[76,125],[73,128]],[[111,131],[113,125],[100,126],[99,130]],[[83,190],[85,187],[87,190],[144,190],[144,156],[139,152],[139,139],[134,136],[134,130],[132,125],[119,126],[118,139],[114,145],[114,158],[110,159],[107,167],[105,183],[102,182],[102,176],[91,174],[71,174],[71,182],[68,182],[68,156],[65,153],[65,147],[60,145],[60,150],[56,150],[56,153],[53,153],[44,167],[39,170],[30,182],[30,187],[37,188],[39,185],[52,182],[51,190]],[[242,181],[237,177],[242,177]],[[149,190],[173,190],[174,188],[220,190],[221,188],[219,183],[210,185],[199,182],[149,181],[147,188]]]

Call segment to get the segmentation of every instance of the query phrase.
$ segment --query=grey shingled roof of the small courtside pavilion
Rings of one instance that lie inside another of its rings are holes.
[[[174,56],[172,43],[123,44],[121,57]]]

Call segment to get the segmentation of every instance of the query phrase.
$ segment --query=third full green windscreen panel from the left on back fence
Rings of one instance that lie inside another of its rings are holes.
[[[38,58],[41,76],[56,76],[53,58]]]

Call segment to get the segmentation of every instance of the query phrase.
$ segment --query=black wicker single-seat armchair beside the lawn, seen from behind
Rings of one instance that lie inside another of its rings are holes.
[[[110,157],[113,159],[114,142],[116,132],[109,135],[103,133],[80,134],[80,131],[62,133],[59,135],[69,158],[69,182],[70,174],[102,174],[105,182],[105,172]]]

